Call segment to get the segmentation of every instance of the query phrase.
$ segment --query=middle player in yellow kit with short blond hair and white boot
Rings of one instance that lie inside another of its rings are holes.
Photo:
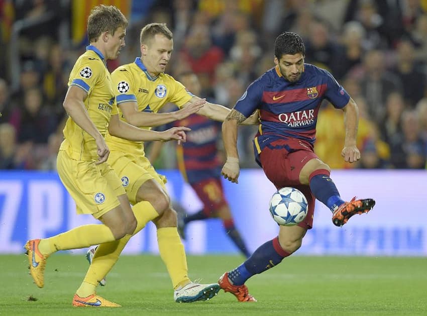
[[[140,43],[141,58],[112,73],[120,117],[137,127],[160,126],[173,121],[165,117],[170,114],[153,114],[152,119],[147,120],[144,112],[157,113],[167,102],[185,109],[190,102],[200,101],[200,98],[164,73],[173,50],[172,32],[165,24],[146,25],[141,31]],[[229,112],[230,109],[226,107],[206,102],[197,114],[223,121]],[[256,122],[254,117],[245,124]],[[138,221],[135,232],[144,228],[149,221],[153,221],[157,227],[159,252],[172,280],[175,301],[192,302],[211,298],[218,292],[218,284],[195,284],[188,278],[184,246],[177,231],[176,212],[171,208],[163,178],[144,155],[144,143],[111,135],[106,137],[106,141],[111,149],[109,162],[122,179],[133,204]],[[85,282],[97,284],[102,281],[117,262],[130,237],[97,247]]]

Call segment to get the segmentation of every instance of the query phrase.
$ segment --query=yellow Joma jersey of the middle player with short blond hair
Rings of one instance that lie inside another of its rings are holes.
[[[192,98],[192,94],[172,76],[160,73],[152,77],[139,57],[133,63],[120,66],[111,75],[117,104],[137,102],[138,111],[157,113],[168,102],[181,108]],[[118,111],[120,119],[126,122],[120,108]],[[132,142],[110,134],[105,140],[110,150],[144,156],[144,142]]]

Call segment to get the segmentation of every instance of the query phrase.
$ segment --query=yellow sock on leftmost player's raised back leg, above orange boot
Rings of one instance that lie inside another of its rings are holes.
[[[85,248],[113,240],[115,240],[114,235],[108,226],[89,224],[42,239],[39,244],[39,251],[44,255],[50,255],[58,250]]]

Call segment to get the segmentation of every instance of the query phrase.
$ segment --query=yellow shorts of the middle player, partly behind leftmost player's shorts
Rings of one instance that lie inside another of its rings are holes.
[[[111,151],[108,163],[122,180],[131,204],[136,203],[137,192],[141,185],[150,179],[157,181],[166,191],[166,177],[158,174],[145,156]]]

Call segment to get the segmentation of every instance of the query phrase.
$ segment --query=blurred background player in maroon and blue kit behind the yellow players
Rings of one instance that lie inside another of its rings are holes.
[[[179,74],[178,80],[190,93],[200,95],[201,86],[193,72]],[[177,146],[178,167],[203,203],[203,208],[195,214],[185,217],[178,214],[178,231],[181,237],[185,239],[185,226],[189,222],[220,218],[227,236],[244,256],[249,257],[251,254],[236,229],[221,183],[221,160],[218,155],[220,123],[192,114],[170,125],[181,126],[180,124],[185,124],[191,131],[187,133],[187,141]],[[162,146],[161,144],[163,143],[157,142],[153,145],[156,148],[153,147],[152,150],[157,153],[157,147]]]

